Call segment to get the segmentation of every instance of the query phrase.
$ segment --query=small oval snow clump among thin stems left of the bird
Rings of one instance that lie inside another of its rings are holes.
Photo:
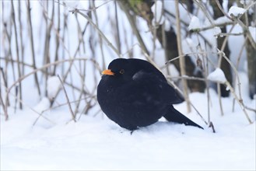
[[[58,89],[61,89],[61,81],[58,79],[58,76],[51,76],[47,79],[47,95],[48,97],[54,98],[58,92]]]

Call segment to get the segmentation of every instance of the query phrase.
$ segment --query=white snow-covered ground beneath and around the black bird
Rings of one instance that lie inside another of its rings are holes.
[[[248,124],[232,99],[218,98],[210,91],[211,120],[216,133],[193,111],[186,116],[205,130],[160,120],[132,134],[103,114],[82,115],[71,120],[68,108],[44,114],[54,124],[30,109],[13,113],[9,121],[1,116],[1,170],[40,169],[255,169],[255,123]],[[191,93],[191,101],[207,118],[207,96]],[[247,102],[255,108],[255,100]],[[175,106],[185,113],[185,103]],[[250,113],[255,119],[255,114]]]

